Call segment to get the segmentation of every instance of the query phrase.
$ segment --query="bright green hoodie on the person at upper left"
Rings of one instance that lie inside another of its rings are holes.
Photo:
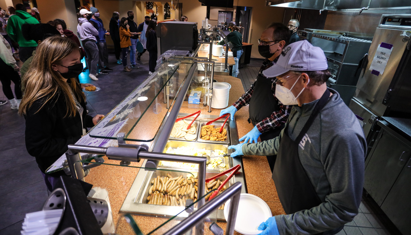
[[[23,24],[39,24],[39,21],[26,11],[16,10],[15,15],[10,16],[7,23],[7,34],[21,47],[36,47],[36,42],[34,42],[33,40],[27,41],[23,37]]]

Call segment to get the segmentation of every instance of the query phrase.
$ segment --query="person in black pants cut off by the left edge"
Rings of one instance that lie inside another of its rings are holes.
[[[0,34],[0,82],[2,83],[3,93],[10,102],[11,110],[17,110],[22,101],[22,86],[21,78],[18,75],[17,62],[14,60],[13,53],[9,43]],[[11,90],[11,82],[14,83],[14,97]],[[7,101],[0,101],[0,106],[6,104]]]

